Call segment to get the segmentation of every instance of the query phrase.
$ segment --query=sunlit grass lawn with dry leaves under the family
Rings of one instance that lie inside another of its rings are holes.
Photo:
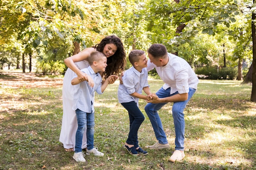
[[[104,157],[85,156],[76,163],[58,141],[62,121],[62,79],[18,79],[0,76],[0,170],[256,170],[256,104],[249,102],[252,85],[240,81],[200,80],[186,107],[184,161],[170,163],[175,132],[172,104],[160,111],[169,150],[147,150],[146,156],[129,155],[127,111],[117,101],[119,82],[95,97],[94,144]],[[149,80],[152,92],[162,86]],[[139,129],[143,148],[156,142],[150,121]]]

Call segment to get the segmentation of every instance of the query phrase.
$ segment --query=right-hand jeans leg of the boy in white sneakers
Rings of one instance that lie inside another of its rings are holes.
[[[94,113],[87,113],[87,149],[94,148]]]

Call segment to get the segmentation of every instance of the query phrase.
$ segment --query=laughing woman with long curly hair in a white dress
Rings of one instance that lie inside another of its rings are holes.
[[[87,59],[93,51],[100,51],[107,56],[108,66],[106,67],[105,73],[101,73],[103,79],[106,79],[110,75],[117,75],[120,71],[124,70],[126,53],[121,40],[115,35],[107,36],[99,44],[84,49],[81,53],[64,60],[68,68],[63,79],[63,117],[59,140],[63,143],[65,151],[74,150],[77,130],[76,113],[72,110],[74,88],[71,80],[76,74],[81,82],[88,81],[93,86],[93,80],[90,76],[80,71],[82,68],[89,66]],[[114,83],[115,80],[115,78],[111,79],[110,84]],[[84,149],[86,146],[86,134],[84,134],[82,148]]]

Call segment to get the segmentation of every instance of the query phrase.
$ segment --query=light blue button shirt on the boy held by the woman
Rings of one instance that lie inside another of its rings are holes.
[[[84,81],[79,84],[74,85],[75,93],[74,93],[74,103],[73,110],[79,109],[86,113],[94,112],[94,92],[96,91],[98,94],[101,93],[101,82],[102,78],[99,73],[94,73],[92,67],[81,69],[83,73],[90,75],[93,79],[94,86],[91,88],[88,82]],[[77,75],[74,76],[74,78]]]

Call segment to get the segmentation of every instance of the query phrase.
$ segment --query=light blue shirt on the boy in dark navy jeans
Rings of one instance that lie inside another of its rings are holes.
[[[139,98],[132,97],[132,93],[142,93],[144,87],[148,85],[148,71],[143,68],[141,73],[133,66],[124,72],[123,84],[119,84],[117,97],[119,103],[127,103],[134,101],[139,106]]]

